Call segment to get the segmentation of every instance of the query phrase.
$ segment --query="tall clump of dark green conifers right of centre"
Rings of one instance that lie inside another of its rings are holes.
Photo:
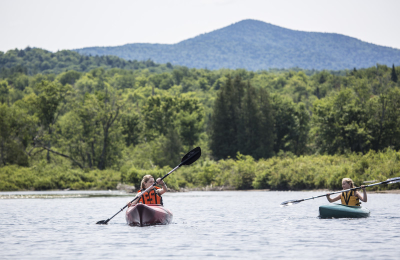
[[[220,88],[211,117],[210,148],[215,159],[239,151],[259,159],[273,154],[273,118],[269,96],[239,76]]]

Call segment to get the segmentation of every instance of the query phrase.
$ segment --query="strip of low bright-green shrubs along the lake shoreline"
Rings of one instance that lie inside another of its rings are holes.
[[[21,190],[104,190],[118,183],[139,186],[141,177],[162,177],[171,167],[120,170],[71,168],[62,163],[36,163],[30,167],[0,167],[0,191]],[[341,178],[350,177],[356,186],[364,181],[380,182],[400,176],[400,152],[392,149],[366,154],[295,156],[281,153],[254,160],[249,155],[213,161],[207,157],[180,167],[165,178],[171,191],[184,190],[340,190]],[[376,181],[375,181],[376,180]],[[366,183],[367,184],[367,183]],[[400,189],[400,183],[368,187],[369,191]]]

